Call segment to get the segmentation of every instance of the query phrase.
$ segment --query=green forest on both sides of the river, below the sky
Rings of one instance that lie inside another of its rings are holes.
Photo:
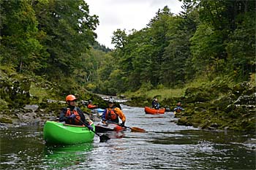
[[[118,95],[189,83],[255,82],[255,1],[182,0],[141,30],[99,45],[99,16],[83,0],[0,0],[2,107],[69,93]]]

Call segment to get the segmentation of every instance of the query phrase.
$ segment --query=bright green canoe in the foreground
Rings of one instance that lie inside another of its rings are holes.
[[[90,124],[95,131],[94,124],[92,122]],[[43,130],[43,138],[45,142],[51,144],[77,144],[92,142],[94,132],[89,131],[85,126],[47,121]]]

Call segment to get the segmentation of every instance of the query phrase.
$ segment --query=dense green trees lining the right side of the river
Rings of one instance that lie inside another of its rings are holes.
[[[256,64],[255,2],[183,2],[178,15],[164,7],[146,28],[114,32],[113,69],[98,69],[98,92],[140,93],[147,82],[152,88],[186,88],[201,74],[208,79],[203,82],[225,75],[231,82],[249,79]]]

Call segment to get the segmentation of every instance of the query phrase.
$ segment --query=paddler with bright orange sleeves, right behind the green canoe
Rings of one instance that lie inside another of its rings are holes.
[[[104,110],[102,114],[102,122],[105,123],[107,120],[110,120],[114,123],[119,123],[118,117],[120,117],[122,123],[121,126],[124,127],[124,123],[126,121],[126,117],[124,113],[118,107],[114,107],[115,101],[113,98],[110,98],[108,101],[108,108]]]

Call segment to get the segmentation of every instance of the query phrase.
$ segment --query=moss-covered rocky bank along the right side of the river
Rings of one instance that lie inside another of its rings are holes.
[[[181,98],[165,98],[161,105],[173,109],[178,101],[185,109],[176,114],[178,125],[255,132],[256,88],[250,82],[238,83],[233,88],[222,82],[211,87],[187,88]],[[151,106],[151,98],[132,98],[127,104]]]

